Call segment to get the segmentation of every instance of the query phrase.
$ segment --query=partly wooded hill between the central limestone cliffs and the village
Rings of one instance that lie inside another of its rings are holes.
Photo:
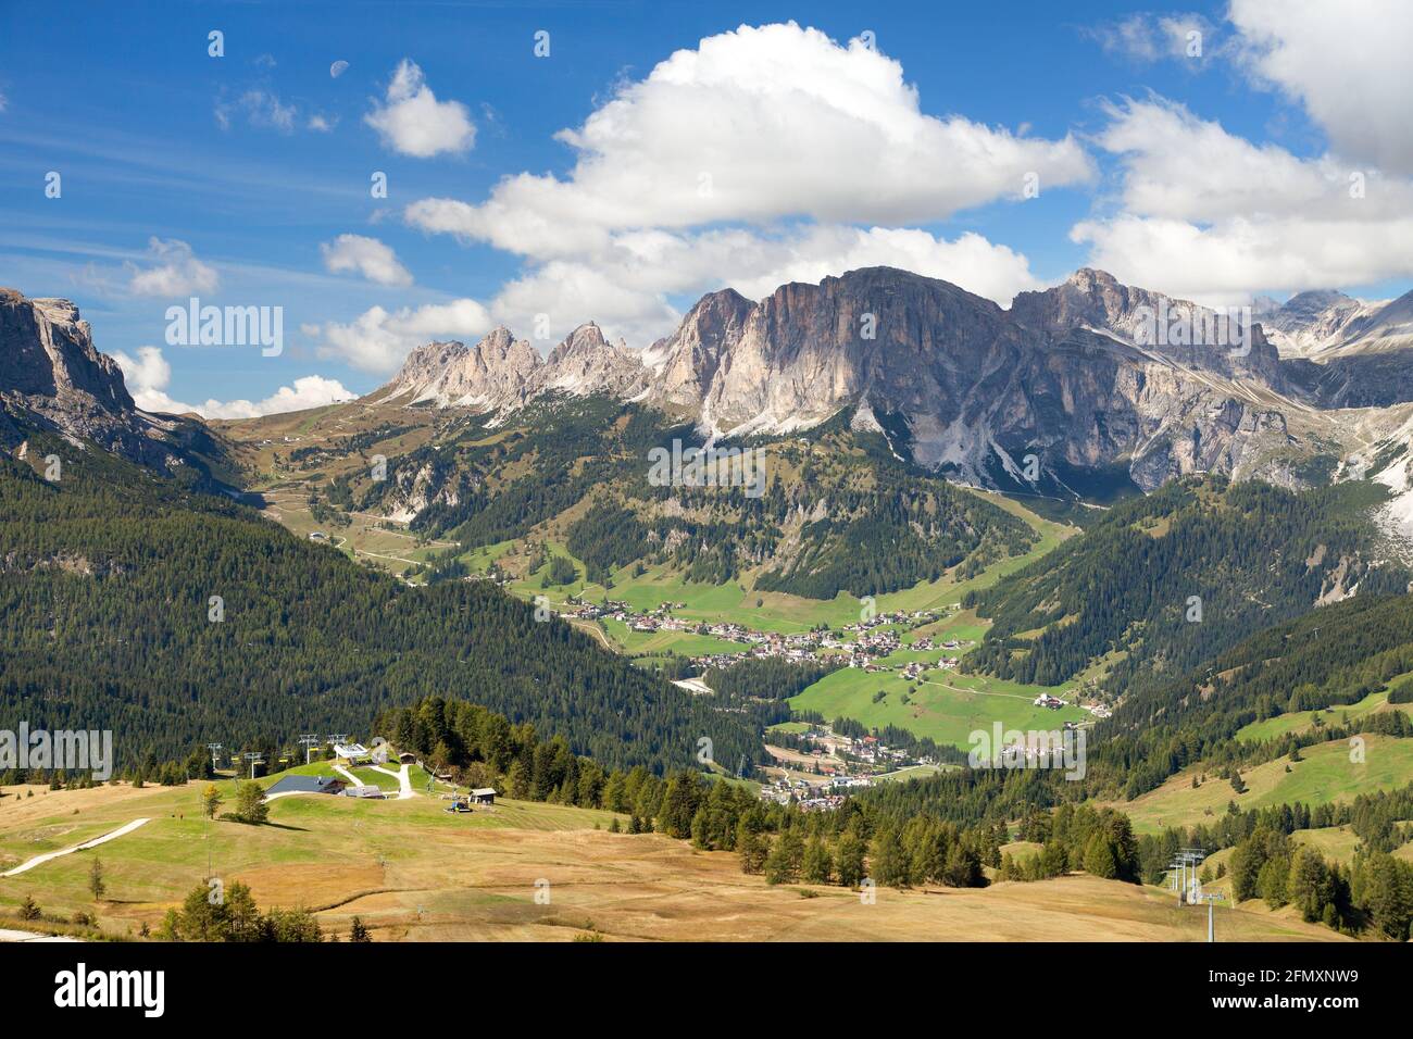
[[[602,396],[550,397],[489,427],[466,417],[435,442],[387,459],[373,481],[359,464],[331,500],[410,515],[411,529],[463,548],[526,537],[564,516],[568,548],[591,580],[636,560],[690,581],[755,571],[760,591],[832,599],[981,570],[1034,540],[1019,519],[896,458],[876,430],[846,417],[808,435],[750,441],[759,485],[654,482],[650,458],[701,445],[687,425]],[[328,454],[309,465],[331,471]],[[735,464],[733,464],[735,465]],[[722,469],[722,482],[733,466]],[[339,481],[335,479],[335,483]]]

